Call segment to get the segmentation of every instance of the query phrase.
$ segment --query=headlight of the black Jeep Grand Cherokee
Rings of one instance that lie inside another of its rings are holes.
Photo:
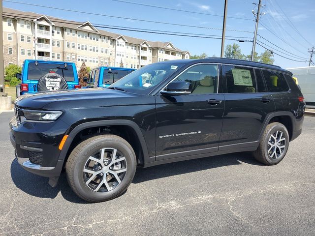
[[[23,119],[22,117],[24,117],[27,120],[54,121],[58,119],[62,114],[62,111],[34,111],[22,109],[21,119]]]

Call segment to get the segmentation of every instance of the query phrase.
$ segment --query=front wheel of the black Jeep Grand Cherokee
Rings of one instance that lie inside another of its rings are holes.
[[[99,135],[76,146],[65,168],[68,183],[80,198],[103,202],[126,191],[136,171],[136,156],[123,138]]]

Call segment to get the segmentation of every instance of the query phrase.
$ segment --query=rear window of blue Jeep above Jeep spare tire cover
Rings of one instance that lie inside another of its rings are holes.
[[[30,62],[28,67],[28,80],[39,80],[40,77],[46,75],[47,73],[56,73],[61,76],[66,81],[74,81],[73,68],[72,65],[67,65],[57,63],[40,63],[37,66],[35,62]]]

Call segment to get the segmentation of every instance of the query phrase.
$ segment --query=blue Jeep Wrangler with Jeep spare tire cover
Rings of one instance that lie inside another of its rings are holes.
[[[81,88],[73,62],[27,59],[16,77],[21,79],[16,86],[17,97],[37,91]]]

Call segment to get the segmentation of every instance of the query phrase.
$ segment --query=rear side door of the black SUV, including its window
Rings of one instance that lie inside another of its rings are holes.
[[[228,92],[219,151],[257,141],[266,116],[275,110],[272,96],[257,92],[265,91],[260,70],[254,73],[250,67],[225,65],[224,71]]]

